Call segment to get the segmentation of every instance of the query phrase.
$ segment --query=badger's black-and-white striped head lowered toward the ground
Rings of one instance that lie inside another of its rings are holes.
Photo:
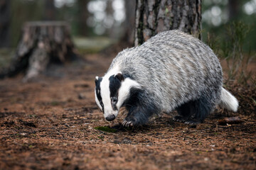
[[[106,120],[112,121],[117,117],[119,108],[129,98],[132,87],[139,88],[139,84],[124,77],[122,72],[95,78],[95,101]]]

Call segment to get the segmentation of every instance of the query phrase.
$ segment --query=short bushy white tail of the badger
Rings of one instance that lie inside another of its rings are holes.
[[[228,109],[228,111],[238,111],[238,99],[235,98],[226,89],[221,89],[220,107]]]

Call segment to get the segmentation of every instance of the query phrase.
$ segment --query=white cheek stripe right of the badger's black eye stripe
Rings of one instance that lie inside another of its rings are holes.
[[[134,81],[132,79],[126,78],[124,81],[122,81],[121,87],[118,91],[118,101],[117,101],[117,109],[122,106],[124,101],[129,97],[129,92],[132,87],[136,87],[138,89],[141,88],[141,86],[137,83],[137,81]]]

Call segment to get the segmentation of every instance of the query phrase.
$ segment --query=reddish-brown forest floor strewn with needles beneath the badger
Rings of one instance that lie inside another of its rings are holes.
[[[127,129],[95,104],[94,77],[110,62],[88,55],[37,81],[1,80],[0,169],[256,169],[255,89],[233,86],[238,113],[219,109],[196,127],[164,114]],[[232,116],[242,123],[218,124]]]

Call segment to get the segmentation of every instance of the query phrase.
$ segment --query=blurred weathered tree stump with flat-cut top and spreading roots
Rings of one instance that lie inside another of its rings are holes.
[[[16,54],[1,77],[13,77],[25,71],[24,81],[38,76],[52,62],[63,63],[75,57],[70,26],[61,21],[25,23]]]

